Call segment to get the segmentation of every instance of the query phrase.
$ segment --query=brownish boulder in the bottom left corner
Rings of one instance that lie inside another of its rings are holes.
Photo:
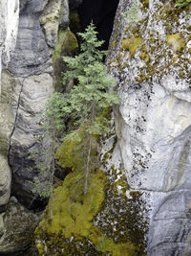
[[[36,224],[34,214],[11,201],[0,214],[0,255],[27,255],[24,251],[30,247]]]

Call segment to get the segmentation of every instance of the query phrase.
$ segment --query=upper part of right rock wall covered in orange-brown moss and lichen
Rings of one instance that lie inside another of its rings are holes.
[[[118,40],[118,34],[124,28],[119,25],[115,28],[111,47],[118,49],[118,55],[109,59],[110,71],[117,68],[122,75],[126,69],[136,74],[129,76],[129,81],[138,85],[138,88],[143,81],[159,81],[162,77],[174,76],[175,72],[180,80],[190,82],[188,63],[191,38],[187,15],[190,4],[178,8],[175,1],[171,0],[159,1],[149,7],[148,1],[141,0],[138,1],[138,12],[141,13],[141,20],[136,24],[127,24],[122,40]],[[185,20],[181,24],[182,17]],[[138,65],[135,66],[135,63]],[[182,68],[183,72],[180,72]]]

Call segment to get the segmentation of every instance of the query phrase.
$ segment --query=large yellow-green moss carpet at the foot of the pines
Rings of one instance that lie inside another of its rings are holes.
[[[53,221],[44,219],[35,230],[39,255],[58,255],[58,251],[62,252],[61,255],[69,255],[71,252],[80,255],[91,252],[96,253],[93,255],[139,255],[139,247],[127,238],[124,242],[116,243],[93,222],[103,207],[104,189],[108,187],[107,176],[101,171],[92,174],[86,196],[83,194],[83,184],[83,175],[75,172],[68,175],[63,185],[55,190]],[[40,241],[46,242],[47,252],[44,250],[44,242]],[[82,248],[80,244],[83,244]]]

